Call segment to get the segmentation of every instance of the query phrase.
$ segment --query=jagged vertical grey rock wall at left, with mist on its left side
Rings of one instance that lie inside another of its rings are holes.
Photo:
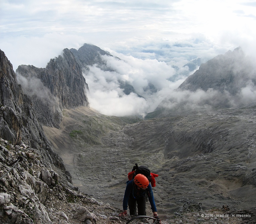
[[[70,50],[51,59],[46,68],[20,65],[18,81],[24,92],[31,96],[36,116],[43,125],[58,127],[63,109],[89,107],[88,88],[82,70]]]

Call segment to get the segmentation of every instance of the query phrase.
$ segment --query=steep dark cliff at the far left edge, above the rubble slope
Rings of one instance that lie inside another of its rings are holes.
[[[18,84],[12,64],[0,50],[0,136],[13,145],[30,145],[43,157],[47,167],[56,166],[64,179],[71,182],[62,159],[53,152],[50,142],[39,124],[29,96]],[[25,143],[25,144],[24,144]],[[26,146],[25,146],[26,147]],[[24,154],[25,155],[25,154]]]

